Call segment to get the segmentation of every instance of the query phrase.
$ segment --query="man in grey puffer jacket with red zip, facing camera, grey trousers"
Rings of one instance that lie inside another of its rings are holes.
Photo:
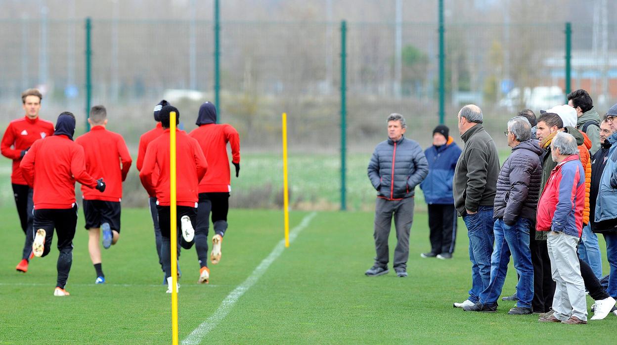
[[[397,245],[394,249],[394,270],[397,276],[407,276],[409,230],[413,222],[414,188],[428,174],[424,151],[416,141],[405,138],[407,124],[400,114],[387,118],[388,139],[379,143],[368,164],[368,178],[377,190],[375,206],[375,265],[366,271],[368,276],[389,272],[387,268],[392,215]]]

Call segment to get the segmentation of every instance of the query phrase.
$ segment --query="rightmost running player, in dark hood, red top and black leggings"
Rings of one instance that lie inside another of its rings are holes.
[[[221,259],[221,243],[227,230],[227,212],[229,210],[230,162],[227,157],[227,143],[231,146],[231,155],[236,177],[240,172],[240,138],[238,131],[231,125],[217,125],[217,108],[210,102],[199,107],[195,128],[189,134],[197,139],[204,151],[209,169],[204,178],[199,181],[199,207],[197,208],[197,228],[195,229],[195,246],[205,246],[208,252],[208,227],[210,210],[215,235],[212,237],[212,253],[210,261],[217,264]],[[199,255],[199,254],[198,254]],[[200,256],[199,262],[207,265],[207,257]]]

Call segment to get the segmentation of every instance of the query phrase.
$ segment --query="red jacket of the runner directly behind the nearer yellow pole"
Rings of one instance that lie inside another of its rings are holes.
[[[156,195],[157,204],[170,206],[170,131],[166,129],[159,138],[152,140],[144,155],[144,164],[139,172],[141,184],[148,194]],[[176,130],[176,199],[177,206],[197,207],[198,184],[208,170],[204,152],[197,140],[184,131]],[[159,178],[152,183],[152,175]]]

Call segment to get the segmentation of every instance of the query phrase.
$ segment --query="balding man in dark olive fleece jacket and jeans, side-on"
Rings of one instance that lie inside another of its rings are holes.
[[[458,131],[465,142],[454,172],[454,207],[463,216],[469,236],[471,289],[454,307],[472,307],[491,281],[493,203],[497,191],[499,156],[495,142],[482,126],[482,110],[470,104],[458,112]]]

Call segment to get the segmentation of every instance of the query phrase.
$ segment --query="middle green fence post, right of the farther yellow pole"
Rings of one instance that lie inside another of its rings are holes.
[[[341,22],[341,210],[347,209],[346,160],[347,160],[347,22]]]

